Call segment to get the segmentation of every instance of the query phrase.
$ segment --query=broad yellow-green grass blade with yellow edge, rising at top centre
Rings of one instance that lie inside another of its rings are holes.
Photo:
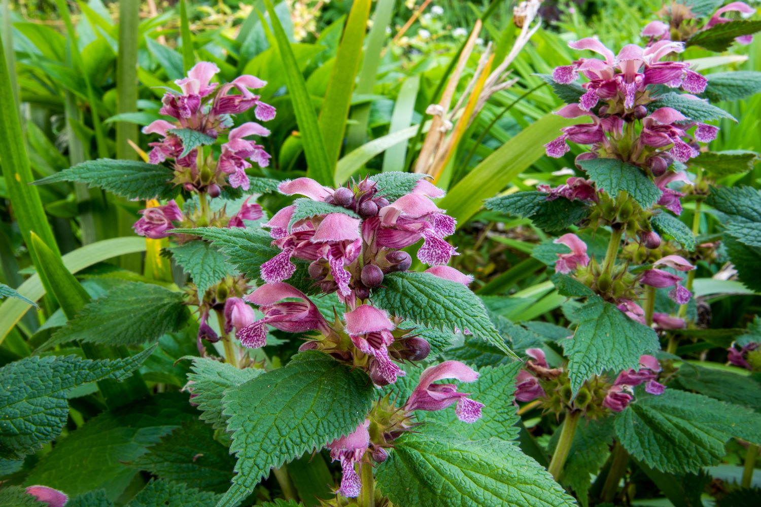
[[[341,152],[369,16],[370,0],[355,0],[352,10],[349,11],[349,19],[346,21],[336,62],[330,73],[323,106],[320,108],[320,118],[317,121],[331,168],[336,165]]]

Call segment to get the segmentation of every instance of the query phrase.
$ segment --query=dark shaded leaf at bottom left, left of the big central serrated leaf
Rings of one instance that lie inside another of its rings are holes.
[[[233,477],[235,458],[214,439],[211,426],[194,420],[164,436],[130,465],[163,480],[224,493]]]

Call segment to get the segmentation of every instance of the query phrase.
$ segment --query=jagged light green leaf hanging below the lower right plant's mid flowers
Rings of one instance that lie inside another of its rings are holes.
[[[655,331],[627,317],[600,297],[592,297],[576,311],[578,328],[572,340],[562,342],[568,357],[568,375],[574,393],[592,375],[638,368],[639,356],[659,348]]]

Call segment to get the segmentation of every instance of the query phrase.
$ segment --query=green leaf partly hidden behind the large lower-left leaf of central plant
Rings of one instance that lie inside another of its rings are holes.
[[[237,369],[228,363],[220,363],[209,357],[192,357],[192,373],[188,380],[193,382],[193,403],[201,410],[200,419],[214,426],[226,429],[227,418],[222,416],[222,395],[224,391],[244,384],[261,375],[264,370],[256,368]]]

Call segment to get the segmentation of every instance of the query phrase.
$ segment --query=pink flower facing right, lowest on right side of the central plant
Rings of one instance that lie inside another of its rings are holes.
[[[478,372],[470,369],[459,361],[444,361],[444,363],[425,369],[420,375],[420,382],[412,391],[405,410],[412,413],[415,410],[444,410],[457,404],[457,418],[466,423],[475,423],[481,418],[482,403],[467,398],[470,393],[457,392],[454,384],[434,384],[441,379],[457,379],[460,382],[474,382]]]

